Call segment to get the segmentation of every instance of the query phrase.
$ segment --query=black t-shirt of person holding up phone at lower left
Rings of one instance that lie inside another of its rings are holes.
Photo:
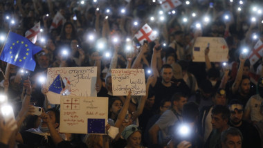
[[[45,140],[45,137],[38,135],[36,133],[31,133],[29,131],[22,131],[21,136],[24,141],[24,145],[27,145],[30,148],[37,147],[46,147],[46,148],[55,148],[55,143],[53,142],[51,136],[47,136],[48,140]]]

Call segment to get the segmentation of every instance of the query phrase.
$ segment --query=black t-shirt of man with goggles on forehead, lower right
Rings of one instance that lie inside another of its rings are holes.
[[[231,124],[231,122],[229,122],[229,124],[231,127],[235,127],[233,126],[233,124]],[[242,133],[242,148],[261,147],[260,135],[257,132],[257,129],[252,124],[243,120],[241,126],[235,128],[239,129]]]

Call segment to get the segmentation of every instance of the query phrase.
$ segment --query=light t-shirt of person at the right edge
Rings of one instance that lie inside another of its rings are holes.
[[[259,94],[253,95],[246,103],[245,112],[250,112],[252,121],[259,122],[260,120],[263,120],[263,115],[260,113],[260,104],[262,103],[263,98],[261,98]]]

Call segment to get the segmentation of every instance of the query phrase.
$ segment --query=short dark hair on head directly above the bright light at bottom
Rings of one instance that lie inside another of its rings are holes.
[[[183,121],[194,122],[199,117],[199,106],[195,102],[187,102],[183,105]]]

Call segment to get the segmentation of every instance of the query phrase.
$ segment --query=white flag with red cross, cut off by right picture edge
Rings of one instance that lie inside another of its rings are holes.
[[[254,65],[260,57],[263,56],[263,43],[259,39],[255,44],[253,50],[251,50],[250,55],[248,55],[248,59],[252,65]]]

